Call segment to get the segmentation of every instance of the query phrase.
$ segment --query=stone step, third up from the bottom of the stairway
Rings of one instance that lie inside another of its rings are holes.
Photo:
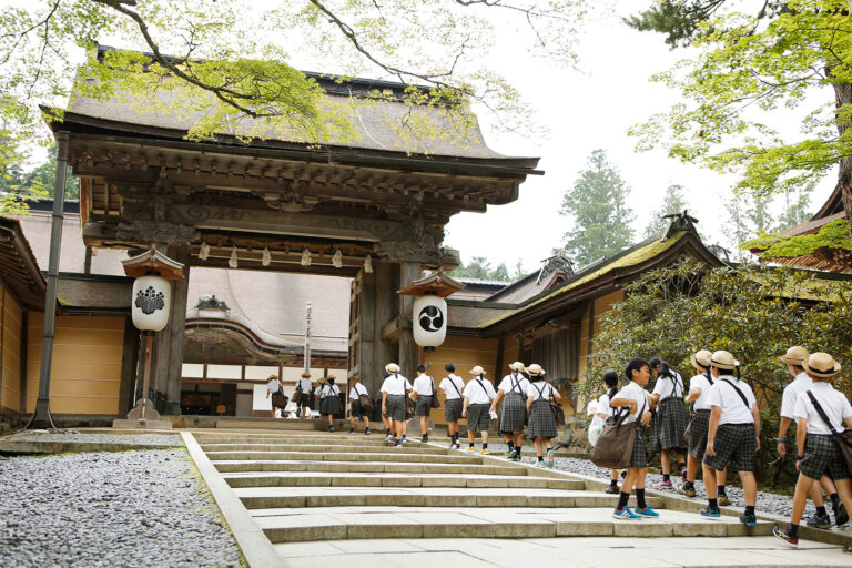
[[[223,474],[227,485],[244,487],[507,487],[514,489],[585,490],[585,481],[507,475],[442,475],[388,473],[247,471]],[[606,495],[606,494],[604,494]]]

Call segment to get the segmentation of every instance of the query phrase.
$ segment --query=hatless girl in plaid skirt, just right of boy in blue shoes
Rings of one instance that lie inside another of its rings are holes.
[[[662,481],[653,484],[655,489],[673,489],[671,485],[671,455],[678,459],[680,476],[686,481],[687,463],[683,458],[687,432],[687,407],[683,404],[683,379],[665,361],[653,357],[649,362],[651,375],[657,378],[651,400],[657,406],[651,424],[651,454],[660,453]]]

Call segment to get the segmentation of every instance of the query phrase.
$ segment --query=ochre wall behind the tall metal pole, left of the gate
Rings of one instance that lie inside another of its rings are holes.
[[[39,393],[43,313],[31,313],[27,342],[27,412]],[[118,414],[125,317],[57,316],[50,376],[53,414]]]

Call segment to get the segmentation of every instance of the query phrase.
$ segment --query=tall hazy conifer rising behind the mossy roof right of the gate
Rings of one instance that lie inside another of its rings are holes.
[[[560,214],[571,217],[561,253],[575,266],[610,256],[633,239],[633,212],[627,206],[630,187],[604,150],[595,150],[574,187],[565,192]]]

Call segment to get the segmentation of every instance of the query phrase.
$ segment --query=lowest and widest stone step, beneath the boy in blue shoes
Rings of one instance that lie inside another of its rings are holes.
[[[252,509],[272,542],[362,538],[552,538],[765,536],[772,524],[746,527],[734,517],[660,511],[658,518],[613,519],[611,508],[317,507]],[[723,546],[723,545],[721,545]]]

